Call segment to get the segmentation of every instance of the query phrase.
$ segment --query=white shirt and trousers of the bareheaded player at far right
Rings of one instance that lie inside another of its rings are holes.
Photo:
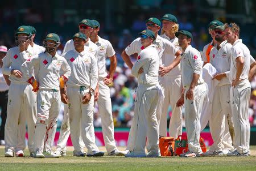
[[[234,42],[231,48],[231,66],[229,73],[229,80],[236,79],[236,58],[242,57],[244,60],[242,74],[240,76],[241,82],[236,87],[230,88],[230,101],[234,122],[234,141],[233,146],[237,148],[240,153],[250,152],[250,123],[248,116],[249,100],[251,93],[251,85],[248,80],[250,71],[250,50],[242,43],[241,39]]]

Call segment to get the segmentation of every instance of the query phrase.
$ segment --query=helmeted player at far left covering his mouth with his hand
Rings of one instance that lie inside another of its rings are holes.
[[[25,116],[28,125],[28,149],[32,148],[32,137],[34,135],[35,116],[36,116],[36,93],[32,92],[32,87],[26,82],[23,77],[23,72],[20,67],[24,61],[30,58],[31,31],[26,25],[20,26],[15,32],[15,41],[18,46],[8,50],[6,57],[3,58],[2,73],[10,75],[11,81],[8,104],[7,104],[7,119],[5,125],[5,156],[13,157],[24,156],[24,147],[18,148],[18,129],[26,127],[26,121],[19,122],[20,116]],[[24,132],[20,132],[24,133]],[[25,136],[25,135],[20,135]]]

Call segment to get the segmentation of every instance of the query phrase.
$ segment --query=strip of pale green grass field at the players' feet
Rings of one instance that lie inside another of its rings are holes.
[[[104,150],[105,148],[101,148]],[[119,149],[123,149],[119,147]],[[117,156],[74,157],[69,148],[66,157],[34,159],[32,157],[4,157],[0,147],[0,170],[256,170],[256,146],[249,157],[180,157],[125,158]],[[25,155],[29,156],[28,151]]]

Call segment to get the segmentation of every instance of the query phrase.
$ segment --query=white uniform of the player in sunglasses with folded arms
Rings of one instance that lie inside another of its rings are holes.
[[[156,106],[160,100],[159,91],[162,91],[162,89],[158,83],[158,52],[155,45],[150,45],[138,55],[138,59],[131,69],[131,74],[138,78],[135,114],[131,125],[131,130],[136,130],[133,134],[133,152],[145,154],[147,136],[148,152],[159,153],[159,126],[156,118]],[[138,74],[141,67],[143,73]]]

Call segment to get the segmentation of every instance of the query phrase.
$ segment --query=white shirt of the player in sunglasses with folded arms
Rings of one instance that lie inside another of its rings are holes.
[[[138,74],[140,68],[142,74]],[[138,55],[137,61],[131,69],[131,74],[138,78],[138,84],[158,84],[159,57],[155,45],[147,46]]]

